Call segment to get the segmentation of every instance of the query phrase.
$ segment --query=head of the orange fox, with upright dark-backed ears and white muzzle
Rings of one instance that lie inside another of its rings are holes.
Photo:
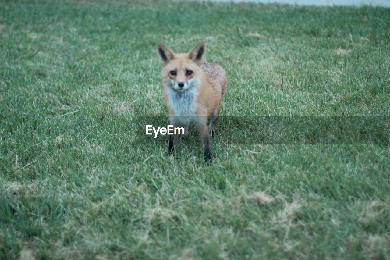
[[[157,44],[161,59],[163,83],[178,92],[199,86],[202,77],[203,56],[206,44],[200,42],[188,53],[174,53],[162,43]]]

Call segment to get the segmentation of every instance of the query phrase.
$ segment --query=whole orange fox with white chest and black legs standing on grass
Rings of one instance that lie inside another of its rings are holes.
[[[211,138],[215,134],[215,122],[220,115],[222,98],[227,88],[225,70],[216,63],[203,62],[206,43],[195,45],[188,53],[174,53],[158,43],[157,54],[162,66],[163,96],[168,108],[171,125],[198,128],[204,152],[204,160],[211,164]],[[208,119],[210,120],[207,126]],[[168,152],[175,153],[178,135],[170,135]]]

